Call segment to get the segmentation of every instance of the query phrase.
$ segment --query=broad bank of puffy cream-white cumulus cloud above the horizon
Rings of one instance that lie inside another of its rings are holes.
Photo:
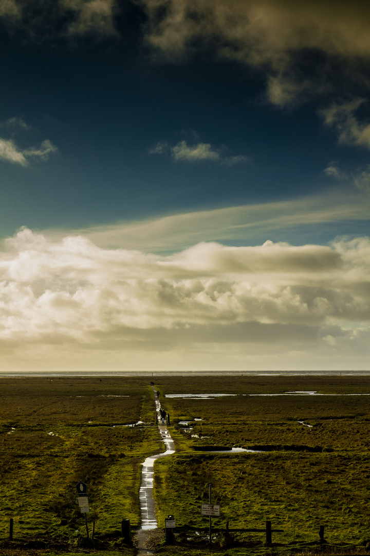
[[[329,246],[211,242],[159,256],[22,229],[0,251],[0,351],[49,363],[64,351],[64,365],[89,351],[99,361],[109,354],[109,365],[122,365],[126,351],[139,359],[158,351],[159,368],[169,353],[189,368],[183,350],[217,368],[215,342],[222,358],[230,342],[235,354],[249,346],[260,359],[282,345],[286,357],[298,348],[312,357],[337,339],[338,349],[363,351],[369,266],[367,237]]]

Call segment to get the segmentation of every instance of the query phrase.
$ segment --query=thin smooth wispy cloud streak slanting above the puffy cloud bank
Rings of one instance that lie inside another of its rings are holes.
[[[154,252],[184,249],[200,241],[264,241],[266,236],[295,236],[304,241],[312,226],[340,227],[349,221],[366,221],[370,217],[368,198],[361,192],[348,194],[333,191],[326,195],[291,201],[257,203],[224,207],[133,222],[93,226],[75,230],[95,244],[107,247],[125,246]],[[290,234],[290,230],[292,230]],[[48,235],[62,237],[63,230],[50,230]]]

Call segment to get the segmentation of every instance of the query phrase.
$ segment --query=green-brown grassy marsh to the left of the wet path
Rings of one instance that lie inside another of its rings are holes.
[[[123,518],[140,524],[140,463],[163,451],[143,380],[2,379],[0,389],[0,538],[9,518],[14,539],[84,535],[80,479],[97,537]]]

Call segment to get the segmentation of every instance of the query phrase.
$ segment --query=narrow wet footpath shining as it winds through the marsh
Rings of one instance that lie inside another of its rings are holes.
[[[147,556],[154,554],[152,550],[145,548],[145,543],[150,537],[150,530],[156,529],[158,523],[155,515],[155,500],[153,498],[153,474],[154,474],[154,460],[164,458],[165,456],[174,454],[175,444],[171,438],[167,425],[160,422],[160,402],[158,393],[152,386],[155,399],[155,411],[158,416],[158,428],[160,435],[165,443],[166,451],[161,454],[151,455],[143,463],[141,470],[141,484],[140,484],[140,512],[141,512],[141,528],[136,532],[135,538],[138,541],[136,547],[138,548],[138,556]]]

